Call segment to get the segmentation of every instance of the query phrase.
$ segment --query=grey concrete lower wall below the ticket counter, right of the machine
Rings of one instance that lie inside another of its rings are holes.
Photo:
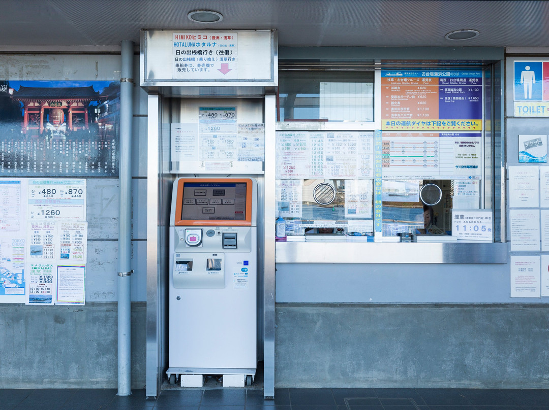
[[[547,305],[278,304],[279,388],[549,388]]]

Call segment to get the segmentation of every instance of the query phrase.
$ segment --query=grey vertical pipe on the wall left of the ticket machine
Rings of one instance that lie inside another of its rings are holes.
[[[121,42],[120,78],[120,217],[118,234],[118,395],[131,390],[131,137],[133,103],[133,42]]]

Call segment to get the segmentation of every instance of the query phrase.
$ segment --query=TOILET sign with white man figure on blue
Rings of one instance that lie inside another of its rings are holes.
[[[514,116],[549,117],[549,61],[514,62]]]

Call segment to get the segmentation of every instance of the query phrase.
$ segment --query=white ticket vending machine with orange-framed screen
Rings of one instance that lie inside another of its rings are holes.
[[[251,384],[256,371],[256,181],[178,178],[170,219],[170,383]]]

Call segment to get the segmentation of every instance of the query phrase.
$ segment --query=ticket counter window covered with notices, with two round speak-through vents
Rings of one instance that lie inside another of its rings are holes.
[[[288,240],[497,241],[489,70],[279,78],[276,212]]]

